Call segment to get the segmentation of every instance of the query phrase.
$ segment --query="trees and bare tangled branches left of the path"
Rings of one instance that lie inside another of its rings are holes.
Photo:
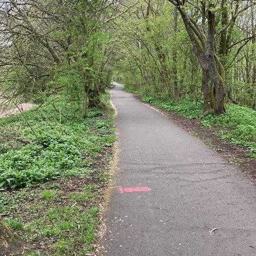
[[[11,95],[44,101],[45,96],[61,94],[81,107],[77,101],[88,92],[89,105],[100,106],[99,78],[102,81],[102,62],[106,61],[102,49],[108,39],[104,30],[113,4],[106,0],[27,0],[26,4],[1,0],[2,99]]]

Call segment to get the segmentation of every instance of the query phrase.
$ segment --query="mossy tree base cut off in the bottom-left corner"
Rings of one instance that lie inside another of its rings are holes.
[[[0,217],[0,256],[21,253],[23,242],[20,236],[15,233]]]

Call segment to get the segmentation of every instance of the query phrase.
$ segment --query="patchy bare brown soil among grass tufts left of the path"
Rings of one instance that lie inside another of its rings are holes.
[[[90,166],[90,169],[106,170],[108,168],[106,166],[106,163],[109,163],[109,156],[111,156],[113,154],[114,154],[114,146],[106,147],[104,152],[101,153],[101,156],[95,158],[95,163]],[[111,161],[110,161],[109,165],[111,165]],[[41,201],[42,189],[52,189],[52,186],[54,183],[59,184],[59,186],[60,186],[59,189],[61,190],[62,194],[65,196],[62,196],[62,197],[56,198],[56,199],[52,199],[51,205],[57,205],[57,206],[61,205],[61,206],[72,207],[72,205],[70,205],[70,202],[68,200],[68,197],[70,194],[73,194],[74,192],[79,193],[79,191],[81,191],[81,193],[83,193],[84,187],[86,187],[88,185],[97,184],[100,188],[103,188],[103,189],[99,189],[97,194],[95,194],[95,197],[98,198],[97,206],[99,208],[103,207],[102,205],[103,205],[104,198],[105,198],[104,191],[107,188],[107,183],[100,179],[98,172],[90,173],[90,175],[87,175],[86,177],[71,177],[68,179],[59,178],[58,180],[53,180],[53,181],[45,183],[43,188],[41,185],[35,185],[35,186],[27,189],[26,190],[27,194],[30,194],[33,191],[33,194],[35,196],[33,198],[30,198],[28,201],[23,201],[23,199],[20,199],[19,201],[17,201],[17,203],[15,204],[15,209],[13,209],[13,211],[15,212],[15,214],[18,214],[19,216],[23,217],[23,221],[22,221],[23,225],[26,226],[27,224],[29,224],[31,219],[36,218],[36,217],[34,217],[34,214],[41,215],[41,216],[44,215],[43,209],[42,210],[34,210],[34,211],[31,211],[30,209],[33,209],[33,207],[35,205],[37,205],[38,202]],[[5,190],[5,192],[9,194],[9,197],[13,197],[13,196],[15,196],[15,191],[17,191],[17,190],[20,190],[20,189]],[[88,205],[90,205],[90,202],[79,201],[76,203],[76,205],[80,206],[81,211],[87,211],[88,207],[89,207]],[[49,204],[49,207],[50,207],[50,204]],[[0,212],[0,218],[1,218],[1,216],[9,217],[9,218],[13,217],[12,213],[9,213],[7,211],[2,212],[2,213]],[[98,218],[100,219],[101,216],[99,215]],[[68,219],[63,219],[63,221],[68,221]],[[18,233],[18,230],[15,230],[15,231],[17,231],[17,233]],[[20,231],[19,233],[21,233],[21,230],[19,230],[19,231]],[[102,237],[104,232],[105,232],[104,226],[101,225],[98,230],[98,237]],[[21,236],[24,234],[19,234],[19,235]],[[9,250],[6,250],[5,252],[3,252],[3,251],[1,251],[2,248],[0,247],[0,256],[7,256],[7,255],[11,256],[11,255],[13,255],[14,251],[15,251],[15,255],[21,256],[28,250],[33,250],[33,252],[39,252],[42,255],[49,255],[52,253],[52,249],[51,249],[52,244],[54,243],[54,241],[58,241],[57,235],[46,235],[45,237],[40,238],[37,236],[37,234],[31,233],[30,236],[34,236],[34,239],[33,240],[23,239],[22,248],[20,246],[17,246],[17,247],[13,246],[11,252]],[[75,249],[74,255],[76,255],[77,251],[79,251],[80,249],[83,248],[83,244],[76,243],[75,248],[76,249]],[[94,244],[94,251],[88,255],[97,256],[98,250],[99,250],[99,245]],[[22,252],[19,253],[19,251],[22,251]]]

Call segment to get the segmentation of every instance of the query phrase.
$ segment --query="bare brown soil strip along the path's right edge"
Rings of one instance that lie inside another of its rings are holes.
[[[133,93],[133,97],[141,101],[138,94]],[[219,154],[225,157],[228,162],[237,164],[239,167],[241,167],[242,171],[247,173],[249,177],[256,182],[256,159],[246,156],[250,153],[250,150],[247,147],[233,145],[229,141],[224,141],[215,134],[219,130],[228,130],[227,128],[203,126],[198,123],[197,119],[189,119],[173,113],[172,111],[165,111],[161,108],[155,107],[151,103],[145,104],[151,108],[154,108],[159,113],[162,113],[176,125],[195,135],[199,140],[203,141],[214,151],[217,151]]]

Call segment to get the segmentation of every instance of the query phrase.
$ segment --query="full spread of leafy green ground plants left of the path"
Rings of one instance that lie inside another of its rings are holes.
[[[31,142],[7,152],[3,149],[0,155],[0,189],[31,186],[57,179],[60,175],[76,175],[78,167],[94,163],[102,145],[113,144],[115,137],[107,130],[110,120],[94,121],[103,115],[102,110],[89,109],[90,118],[69,120],[56,111],[70,116],[67,106],[71,105],[57,102],[55,108],[48,105],[39,113],[28,111],[26,118],[33,125],[34,132],[21,115],[2,119],[3,124],[22,126],[20,134]],[[98,133],[89,129],[94,122]]]

